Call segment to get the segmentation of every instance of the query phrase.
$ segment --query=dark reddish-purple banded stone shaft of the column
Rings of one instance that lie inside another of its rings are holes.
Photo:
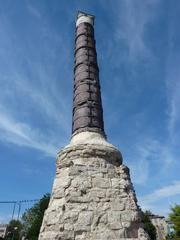
[[[94,28],[80,23],[76,28],[72,133],[104,133]]]

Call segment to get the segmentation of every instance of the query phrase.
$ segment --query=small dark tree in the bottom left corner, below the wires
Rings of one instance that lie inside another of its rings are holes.
[[[22,223],[19,220],[11,220],[7,227],[6,240],[19,240],[21,236]]]

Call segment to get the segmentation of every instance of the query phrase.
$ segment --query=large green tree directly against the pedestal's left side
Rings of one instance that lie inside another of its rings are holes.
[[[27,239],[37,240],[42,224],[44,211],[47,209],[50,200],[50,194],[46,194],[33,207],[26,210],[22,216],[23,236]]]

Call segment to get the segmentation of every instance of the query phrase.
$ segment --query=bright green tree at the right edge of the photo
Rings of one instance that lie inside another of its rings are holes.
[[[169,220],[174,225],[174,239],[180,240],[180,205],[175,205],[171,208]]]

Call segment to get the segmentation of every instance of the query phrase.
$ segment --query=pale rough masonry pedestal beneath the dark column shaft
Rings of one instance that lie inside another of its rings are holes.
[[[80,133],[58,154],[39,240],[148,239],[121,153],[97,133]]]

